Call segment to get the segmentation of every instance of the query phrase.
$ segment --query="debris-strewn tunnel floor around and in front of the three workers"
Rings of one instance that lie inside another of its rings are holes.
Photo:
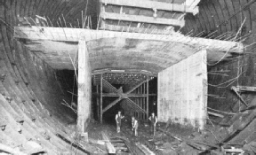
[[[210,154],[218,141],[217,129],[212,124],[207,125],[204,132],[192,128],[182,128],[178,125],[158,123],[156,134],[151,132],[148,122],[139,121],[138,136],[134,136],[129,120],[122,122],[121,132],[116,133],[114,123],[92,120],[88,126],[89,143],[84,146],[93,154],[108,154],[102,140],[102,133],[108,136],[110,143],[116,148],[116,154]],[[215,133],[215,134],[213,134]],[[216,139],[217,138],[217,139]]]

